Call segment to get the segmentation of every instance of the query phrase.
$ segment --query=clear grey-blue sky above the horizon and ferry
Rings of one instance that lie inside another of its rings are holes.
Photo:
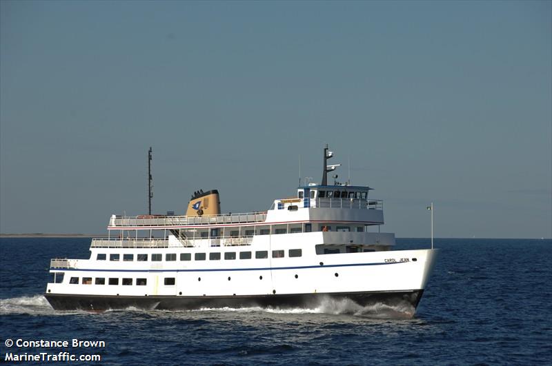
[[[551,1],[0,1],[0,233],[268,210],[322,179],[382,232],[552,236]],[[349,173],[350,172],[350,173]]]

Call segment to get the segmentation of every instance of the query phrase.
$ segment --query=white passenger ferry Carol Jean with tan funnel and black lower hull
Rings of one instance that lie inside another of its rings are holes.
[[[415,309],[436,250],[393,250],[372,188],[327,183],[332,156],[326,145],[322,183],[264,212],[221,214],[219,192],[199,190],[184,216],[112,215],[90,258],[52,259],[45,296],[59,310],[315,308],[328,298]]]

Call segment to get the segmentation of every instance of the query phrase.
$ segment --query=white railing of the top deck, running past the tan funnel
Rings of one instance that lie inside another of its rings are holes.
[[[208,225],[219,223],[259,223],[266,220],[266,212],[252,212],[248,214],[220,214],[204,216],[111,216],[109,226],[180,226],[180,225]]]

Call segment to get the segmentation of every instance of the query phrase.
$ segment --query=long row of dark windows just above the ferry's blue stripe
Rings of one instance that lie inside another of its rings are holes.
[[[284,250],[273,250],[272,251],[272,257],[273,258],[284,258]],[[291,258],[299,257],[303,255],[303,251],[301,249],[290,249],[288,250],[288,256]],[[136,254],[137,261],[144,262],[148,261],[148,254]],[[107,254],[99,253],[96,256],[97,261],[106,261]],[[110,261],[120,261],[121,255],[120,254],[110,254],[109,260]],[[123,254],[123,261],[134,261],[135,255],[134,254]],[[194,260],[195,261],[205,261],[207,258],[206,253],[195,253],[194,254]],[[224,259],[226,260],[233,260],[236,258],[236,252],[224,252]],[[257,250],[255,252],[255,258],[257,259],[264,259],[268,258],[268,250]],[[163,259],[163,254],[151,254],[151,260],[152,262],[160,262]],[[219,261],[221,259],[221,253],[220,252],[212,252],[209,253],[209,261]],[[251,252],[239,252],[239,259],[251,259]],[[171,262],[177,260],[177,254],[175,253],[167,253],[165,254],[165,261]],[[180,260],[181,261],[191,261],[192,260],[192,254],[191,253],[181,253],[180,254]]]

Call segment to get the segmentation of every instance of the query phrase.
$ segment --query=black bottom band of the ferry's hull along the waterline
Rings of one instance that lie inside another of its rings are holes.
[[[409,304],[415,309],[420,303],[423,289],[400,292],[344,292],[333,294],[275,294],[255,296],[101,296],[73,294],[44,294],[56,310],[82,309],[102,311],[108,309],[159,309],[192,310],[202,308],[264,307],[313,309],[328,299],[350,300],[365,307],[382,303],[389,306]]]

